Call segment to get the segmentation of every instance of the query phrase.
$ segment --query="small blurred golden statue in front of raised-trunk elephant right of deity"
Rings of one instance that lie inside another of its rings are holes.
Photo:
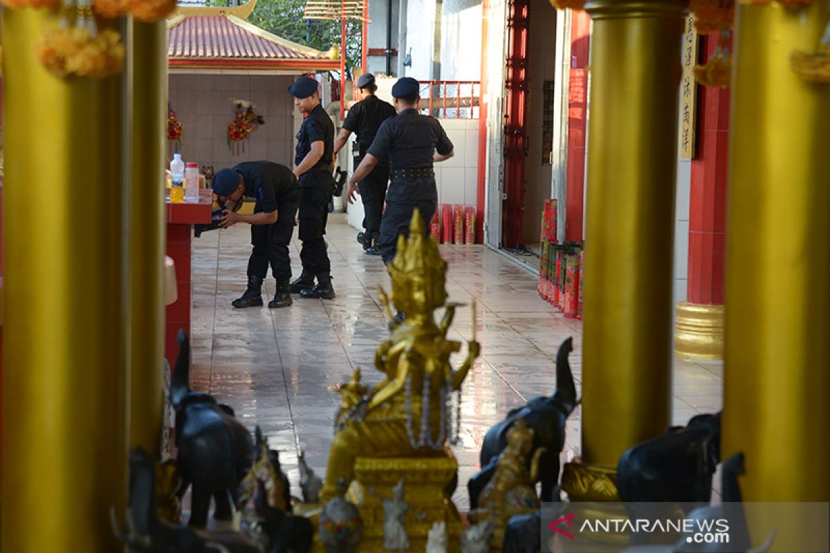
[[[544,448],[537,449],[527,468],[533,449],[533,429],[524,419],[516,420],[507,433],[507,446],[496,461],[496,472],[479,496],[479,508],[470,512],[471,522],[491,521],[494,525],[491,546],[501,550],[505,527],[510,517],[535,512],[540,507],[535,482]]]

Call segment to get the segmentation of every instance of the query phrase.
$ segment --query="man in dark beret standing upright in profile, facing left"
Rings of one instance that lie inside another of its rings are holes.
[[[303,273],[291,283],[291,292],[302,298],[334,298],[331,264],[326,252],[325,221],[334,190],[331,165],[334,160],[334,124],[320,104],[317,81],[300,77],[289,89],[294,105],[305,114],[297,133],[294,174],[300,181],[300,260]],[[315,286],[315,279],[317,285]]]

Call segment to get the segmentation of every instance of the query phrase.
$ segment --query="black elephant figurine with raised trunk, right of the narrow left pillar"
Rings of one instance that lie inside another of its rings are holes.
[[[182,476],[180,497],[193,485],[189,524],[203,527],[213,497],[217,520],[231,520],[239,483],[253,463],[253,442],[248,430],[211,395],[190,389],[190,344],[178,332],[178,359],[170,385],[176,409],[178,470]]]

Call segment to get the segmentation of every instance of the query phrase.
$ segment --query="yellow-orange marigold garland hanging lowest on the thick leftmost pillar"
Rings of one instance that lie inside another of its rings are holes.
[[[119,73],[124,63],[120,38],[110,30],[94,35],[85,27],[61,27],[43,37],[37,56],[53,75],[103,78]]]

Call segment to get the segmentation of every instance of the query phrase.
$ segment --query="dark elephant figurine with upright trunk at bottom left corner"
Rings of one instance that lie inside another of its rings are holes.
[[[113,527],[137,553],[261,553],[247,536],[234,531],[204,531],[159,519],[155,509],[155,462],[147,451],[129,454],[129,512],[122,534],[113,515]]]

